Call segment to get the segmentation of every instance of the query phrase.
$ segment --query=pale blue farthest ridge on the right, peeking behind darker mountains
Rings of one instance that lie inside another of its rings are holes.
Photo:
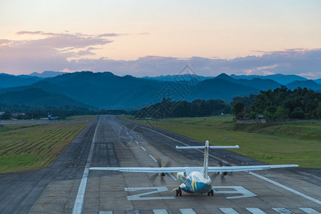
[[[270,78],[274,81],[276,81],[277,83],[280,83],[281,85],[285,86],[288,83],[291,83],[292,81],[306,81],[307,78],[304,78],[302,76],[297,76],[297,75],[285,75],[285,74],[272,74],[272,75],[267,75],[267,76],[258,76],[258,75],[234,75],[232,74],[231,77],[233,78],[244,78],[244,79],[253,79],[253,78],[263,78],[263,79],[267,79]]]

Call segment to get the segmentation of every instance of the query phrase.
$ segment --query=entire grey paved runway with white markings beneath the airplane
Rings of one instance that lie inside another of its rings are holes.
[[[320,170],[268,170],[212,175],[215,194],[176,197],[173,175],[91,171],[95,166],[203,165],[203,151],[175,146],[203,144],[156,128],[99,116],[43,170],[0,175],[4,213],[320,213]],[[224,150],[209,165],[262,164]]]

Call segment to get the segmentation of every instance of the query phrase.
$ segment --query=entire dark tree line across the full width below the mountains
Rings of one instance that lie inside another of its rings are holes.
[[[16,116],[17,119],[39,119],[49,115],[66,118],[75,115],[98,114],[130,114],[137,118],[175,118],[195,116],[217,116],[234,113],[238,119],[320,119],[321,93],[307,88],[296,88],[291,91],[286,86],[275,90],[260,91],[258,95],[235,97],[231,103],[217,100],[172,101],[163,98],[156,103],[138,111],[125,110],[90,110],[77,106],[34,108],[26,105],[7,105],[0,103],[0,119],[11,119],[12,113],[25,113]]]

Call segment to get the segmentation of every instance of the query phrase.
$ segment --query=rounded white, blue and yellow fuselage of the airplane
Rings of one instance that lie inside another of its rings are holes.
[[[186,193],[205,194],[213,189],[210,177],[204,178],[204,173],[199,171],[192,171],[187,176],[185,173],[177,173],[176,178],[180,189]]]

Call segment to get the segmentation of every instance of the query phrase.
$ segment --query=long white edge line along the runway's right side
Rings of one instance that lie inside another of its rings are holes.
[[[141,126],[141,127],[146,128],[146,127],[144,127],[144,126]],[[190,145],[188,145],[188,144],[186,144],[186,143],[183,143],[183,142],[181,142],[181,141],[178,141],[178,140],[176,140],[175,138],[172,138],[172,137],[170,137],[170,136],[166,136],[165,134],[160,133],[160,132],[158,132],[158,131],[155,131],[155,130],[153,130],[153,129],[150,129],[150,128],[146,128],[146,129],[148,129],[148,130],[150,130],[150,131],[153,131],[153,132],[155,132],[155,133],[158,133],[158,134],[160,134],[160,135],[162,135],[162,136],[165,136],[165,137],[167,137],[167,138],[170,138],[170,139],[172,139],[173,141],[176,141],[176,142],[178,142],[178,143],[180,143],[180,144],[183,144],[184,146],[190,146]],[[201,151],[200,149],[198,149],[197,151],[199,151],[200,153],[203,153],[203,152],[204,152],[204,151]],[[212,158],[215,158],[215,159],[217,159],[217,160],[219,160],[219,161],[222,161],[223,163],[226,163],[226,164],[229,164],[229,165],[235,165],[235,164],[229,163],[228,161],[225,161],[225,160],[223,160],[223,159],[221,159],[221,158],[215,157],[215,156],[213,156],[213,155],[211,155],[211,154],[209,154],[209,156],[212,157]],[[305,198],[305,199],[307,199],[307,200],[311,200],[311,201],[313,201],[314,203],[317,203],[317,204],[321,205],[321,201],[320,201],[320,200],[317,200],[317,199],[315,199],[315,198],[312,198],[312,197],[310,197],[309,195],[305,195],[304,193],[300,193],[300,192],[297,191],[297,190],[294,190],[294,189],[292,189],[292,188],[289,188],[289,187],[287,187],[286,185],[282,185],[281,183],[277,183],[276,181],[271,180],[271,179],[269,179],[269,178],[265,178],[264,176],[258,175],[257,173],[253,173],[253,172],[249,172],[249,173],[250,173],[250,175],[254,175],[254,176],[257,177],[257,178],[261,178],[261,179],[263,179],[263,180],[265,180],[265,181],[267,181],[267,182],[269,182],[269,183],[272,183],[272,184],[274,184],[274,185],[277,185],[277,186],[280,187],[280,188],[283,188],[283,189],[285,189],[285,190],[288,190],[288,191],[290,191],[290,192],[292,192],[292,193],[295,193],[296,195],[300,195],[300,196],[302,196],[303,198]]]

